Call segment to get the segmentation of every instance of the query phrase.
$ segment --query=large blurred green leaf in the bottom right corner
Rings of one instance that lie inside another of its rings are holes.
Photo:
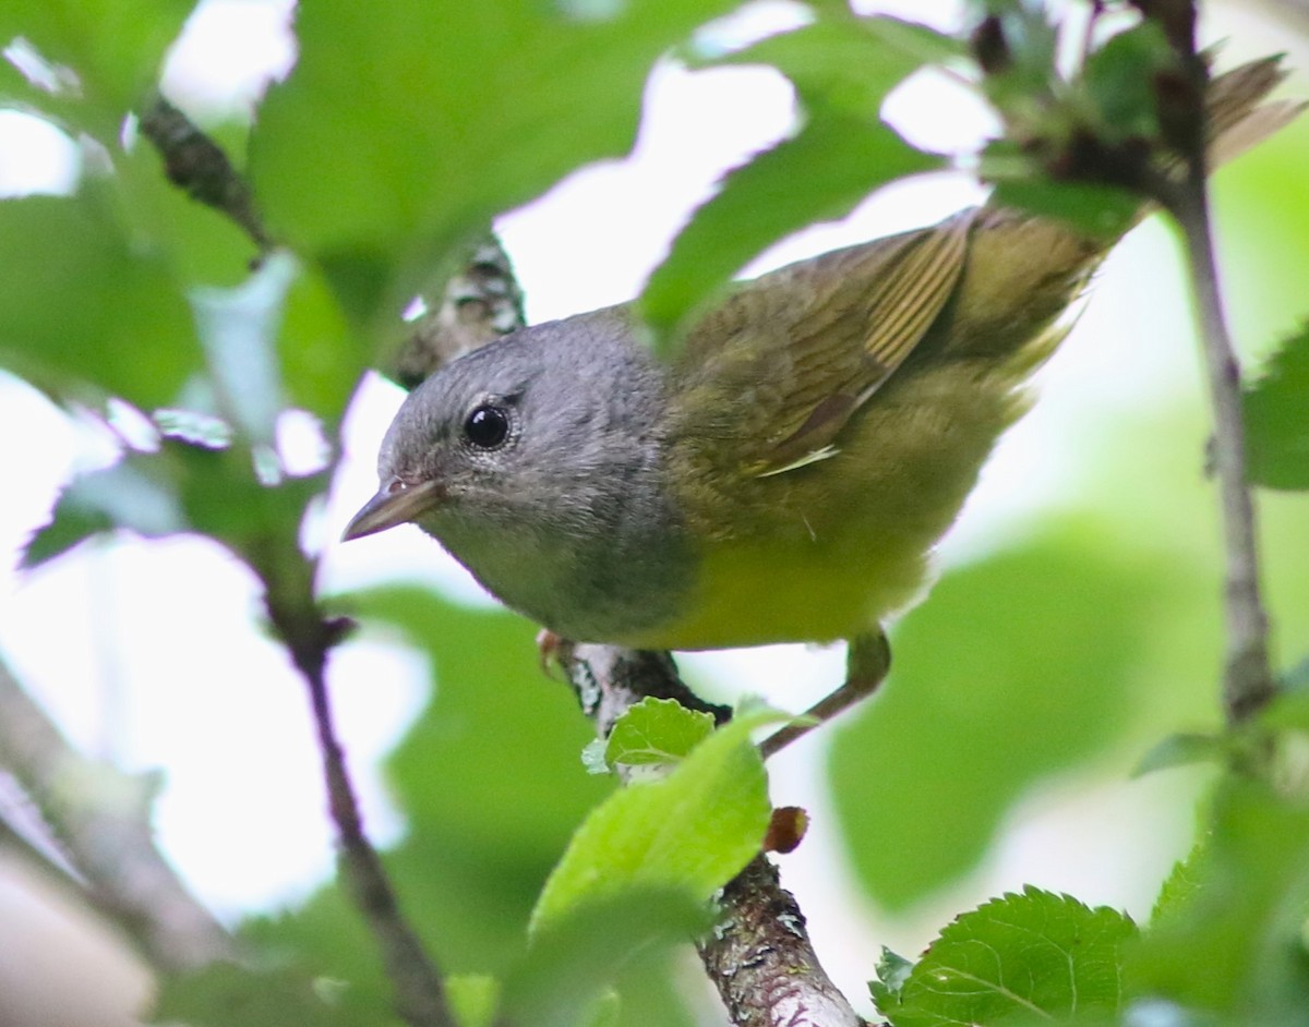
[[[1309,806],[1229,778],[1186,904],[1143,937],[1127,962],[1132,994],[1225,1023],[1309,1023]]]

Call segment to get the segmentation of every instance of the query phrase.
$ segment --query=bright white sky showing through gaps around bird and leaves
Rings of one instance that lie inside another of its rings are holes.
[[[202,118],[249,106],[267,76],[291,61],[287,8],[287,0],[204,4],[169,64],[174,99]],[[905,0],[877,8],[936,20],[949,18],[958,4]],[[793,12],[785,3],[761,4],[749,27],[785,24]],[[631,298],[721,170],[778,139],[792,114],[789,86],[775,73],[660,68],[630,160],[583,170],[499,224],[526,289],[530,319]],[[916,140],[940,149],[967,147],[987,126],[984,111],[941,81],[902,90],[889,114]],[[75,167],[76,154],[59,132],[0,113],[0,192],[65,190]],[[978,196],[966,179],[948,175],[889,190],[840,225],[775,247],[751,270],[925,224]],[[1068,495],[1076,475],[1068,454],[1077,441],[1115,407],[1157,396],[1175,352],[1135,348],[1134,340],[1187,331],[1181,311],[1158,301],[1157,277],[1140,273],[1147,262],[1166,264],[1170,247],[1166,233],[1149,225],[1109,262],[1096,302],[1041,374],[1043,402],[1001,445],[942,547],[942,560],[967,560],[1021,532],[1034,512]],[[1124,377],[1121,369],[1127,365],[1134,373]],[[1174,370],[1179,389],[1194,387],[1191,366]],[[335,538],[376,488],[377,442],[399,402],[399,390],[381,379],[361,389],[347,423],[347,461],[322,525],[325,539]],[[76,468],[103,461],[103,447],[4,375],[0,437],[8,440],[0,449],[0,548],[16,552],[48,515],[60,483]],[[323,573],[329,590],[421,577],[469,602],[490,602],[416,530],[348,547],[329,543]],[[226,918],[293,900],[332,866],[302,688],[281,652],[250,629],[257,614],[253,580],[216,547],[191,539],[89,546],[34,574],[0,566],[4,657],[89,752],[131,768],[165,768],[160,843],[195,891]],[[712,669],[729,687],[766,687],[779,705],[800,709],[839,679],[842,661],[839,650],[780,646],[698,654],[686,665]],[[332,676],[367,823],[385,844],[402,823],[373,765],[420,708],[425,671],[406,653],[351,644],[334,655]],[[838,983],[863,994],[877,945],[912,947],[924,939],[897,938],[894,928],[870,931],[863,911],[851,908],[853,888],[842,883],[844,867],[833,846],[822,844],[830,820],[822,815],[817,780],[821,743],[796,746],[774,772],[778,803],[819,814],[814,835],[787,858],[784,870],[792,887],[805,882],[801,904]],[[1031,880],[1140,912],[1174,853],[1143,853],[1135,839],[1085,826],[1130,823],[1156,809],[1169,788],[1166,776],[1156,776],[1113,790],[1033,799],[982,871],[982,887],[999,891]],[[1189,816],[1187,809],[1179,811],[1178,844]],[[941,912],[952,903],[942,897]]]

